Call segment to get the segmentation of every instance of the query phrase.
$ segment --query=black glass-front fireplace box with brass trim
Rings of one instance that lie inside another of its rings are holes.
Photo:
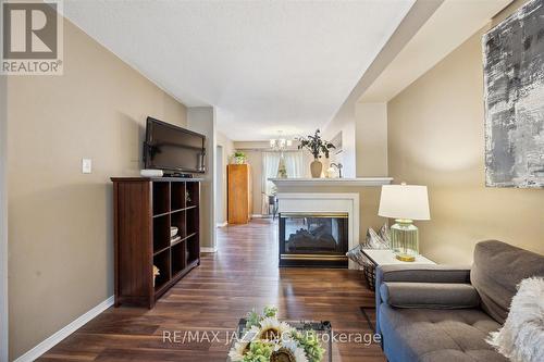
[[[347,212],[280,213],[280,266],[347,267]]]

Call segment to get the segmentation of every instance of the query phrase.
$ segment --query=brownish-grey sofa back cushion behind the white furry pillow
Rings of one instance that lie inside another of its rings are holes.
[[[544,276],[544,257],[497,240],[481,241],[474,249],[470,282],[482,309],[503,324],[516,286],[530,276]]]

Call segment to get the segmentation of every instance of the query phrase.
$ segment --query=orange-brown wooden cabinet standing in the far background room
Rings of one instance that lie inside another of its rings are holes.
[[[251,167],[248,164],[227,166],[228,224],[247,224],[254,213]]]

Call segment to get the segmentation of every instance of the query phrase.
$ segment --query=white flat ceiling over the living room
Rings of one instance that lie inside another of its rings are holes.
[[[329,122],[413,0],[65,0],[64,15],[233,140]],[[164,120],[169,121],[169,120]]]

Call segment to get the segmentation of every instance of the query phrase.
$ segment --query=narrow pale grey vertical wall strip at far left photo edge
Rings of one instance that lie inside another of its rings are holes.
[[[0,76],[0,362],[8,362],[7,77]]]

